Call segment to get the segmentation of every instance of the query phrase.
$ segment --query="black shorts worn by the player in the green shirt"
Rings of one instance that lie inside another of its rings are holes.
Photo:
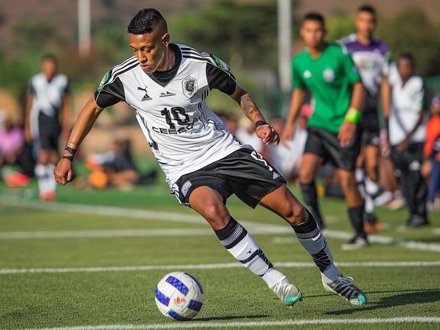
[[[353,171],[356,168],[356,158],[360,153],[359,134],[360,130],[358,129],[353,144],[342,147],[338,140],[338,134],[309,127],[304,153],[313,153],[324,158],[324,162],[329,162],[337,168]]]

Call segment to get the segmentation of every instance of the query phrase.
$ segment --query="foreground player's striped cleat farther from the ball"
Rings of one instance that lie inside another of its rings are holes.
[[[326,277],[321,273],[321,281],[327,292],[332,292],[333,294],[338,294],[349,303],[353,305],[366,305],[366,296],[358,287],[353,285],[353,278],[351,277],[341,277],[336,281],[327,283]]]

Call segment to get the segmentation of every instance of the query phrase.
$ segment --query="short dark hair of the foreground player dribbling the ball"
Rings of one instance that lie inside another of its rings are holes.
[[[131,19],[127,26],[127,32],[130,34],[151,33],[156,28],[168,32],[168,26],[162,14],[154,8],[144,8],[140,10],[135,17]]]

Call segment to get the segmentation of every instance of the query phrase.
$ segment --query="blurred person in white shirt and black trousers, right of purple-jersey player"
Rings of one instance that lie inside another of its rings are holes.
[[[428,188],[421,176],[428,100],[423,79],[415,76],[415,59],[411,54],[397,58],[397,72],[390,75],[391,109],[384,109],[384,116],[391,159],[401,173],[401,189],[410,210],[406,228],[416,228],[428,224]]]

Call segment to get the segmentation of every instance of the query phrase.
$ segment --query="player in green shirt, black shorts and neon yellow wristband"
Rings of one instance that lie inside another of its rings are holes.
[[[322,226],[315,177],[322,164],[331,162],[337,168],[355,228],[355,236],[342,248],[364,248],[369,244],[362,220],[364,200],[355,181],[355,163],[360,152],[357,122],[364,102],[364,85],[347,48],[325,42],[325,23],[320,14],[307,14],[300,34],[307,47],[292,61],[294,91],[281,141],[292,139],[294,120],[310,91],[314,113],[309,120],[309,136],[300,168],[305,203]]]

